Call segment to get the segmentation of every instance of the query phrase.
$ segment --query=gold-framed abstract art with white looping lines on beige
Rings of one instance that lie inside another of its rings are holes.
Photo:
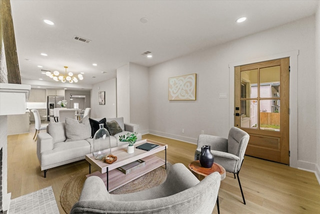
[[[196,74],[169,78],[169,100],[195,100]]]

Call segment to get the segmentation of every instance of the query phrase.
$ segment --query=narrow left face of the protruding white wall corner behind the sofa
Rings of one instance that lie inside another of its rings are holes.
[[[129,64],[116,69],[116,114],[130,122],[130,71]]]

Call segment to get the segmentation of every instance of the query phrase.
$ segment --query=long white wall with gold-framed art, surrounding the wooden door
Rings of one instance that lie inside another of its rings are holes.
[[[297,149],[291,152],[297,152],[298,166],[314,170],[314,26],[314,16],[308,17],[149,68],[149,132],[193,143],[201,130],[227,137],[233,117],[228,65],[298,50],[297,73],[292,75],[297,85],[290,85],[297,87],[297,94],[290,94],[297,99]],[[196,101],[168,101],[168,78],[191,73],[197,73]],[[226,93],[228,99],[219,99],[219,93]]]

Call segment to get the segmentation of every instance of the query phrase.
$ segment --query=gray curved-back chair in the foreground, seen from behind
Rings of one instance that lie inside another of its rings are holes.
[[[218,172],[199,181],[182,163],[170,168],[162,184],[127,194],[110,194],[101,178],[90,176],[70,213],[211,214],[219,187]]]

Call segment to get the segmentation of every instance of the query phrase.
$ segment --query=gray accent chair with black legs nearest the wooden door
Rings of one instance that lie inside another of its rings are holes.
[[[201,147],[203,145],[210,146],[211,153],[214,156],[214,162],[220,164],[225,171],[233,173],[234,178],[236,174],[244,204],[245,200],[239,179],[239,171],[241,169],[248,142],[248,133],[237,127],[232,127],[229,130],[227,139],[207,134],[200,134],[197,141],[197,148],[194,153],[194,160],[198,160],[201,153]]]

